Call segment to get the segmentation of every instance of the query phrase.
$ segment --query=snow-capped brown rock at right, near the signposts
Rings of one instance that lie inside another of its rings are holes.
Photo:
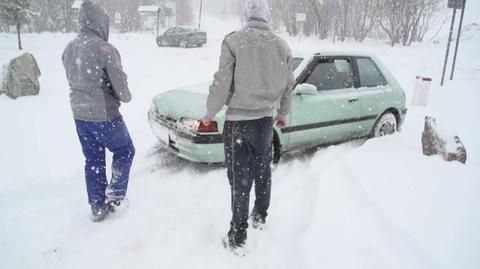
[[[432,117],[425,117],[425,130],[422,133],[423,154],[441,155],[444,160],[467,161],[467,150],[457,135],[443,130]]]

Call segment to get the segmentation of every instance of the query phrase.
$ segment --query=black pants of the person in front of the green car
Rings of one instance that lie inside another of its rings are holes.
[[[232,191],[229,237],[242,244],[247,237],[250,190],[255,182],[253,214],[267,217],[270,205],[273,119],[226,121],[225,159]]]

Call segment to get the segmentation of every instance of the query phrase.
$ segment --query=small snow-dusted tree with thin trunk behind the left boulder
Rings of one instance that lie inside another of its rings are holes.
[[[31,18],[29,0],[3,0],[0,3],[0,18],[8,25],[17,27],[18,49],[22,50],[20,30],[22,24],[28,23]]]

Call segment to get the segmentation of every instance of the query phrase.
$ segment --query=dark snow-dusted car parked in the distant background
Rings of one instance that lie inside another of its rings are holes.
[[[195,28],[171,27],[163,35],[157,36],[157,44],[160,47],[201,47],[206,43],[207,33]]]

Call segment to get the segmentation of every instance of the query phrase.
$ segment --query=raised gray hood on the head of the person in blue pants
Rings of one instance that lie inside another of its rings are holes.
[[[83,1],[78,13],[78,23],[82,32],[93,32],[108,41],[110,19],[99,4],[90,0]]]

